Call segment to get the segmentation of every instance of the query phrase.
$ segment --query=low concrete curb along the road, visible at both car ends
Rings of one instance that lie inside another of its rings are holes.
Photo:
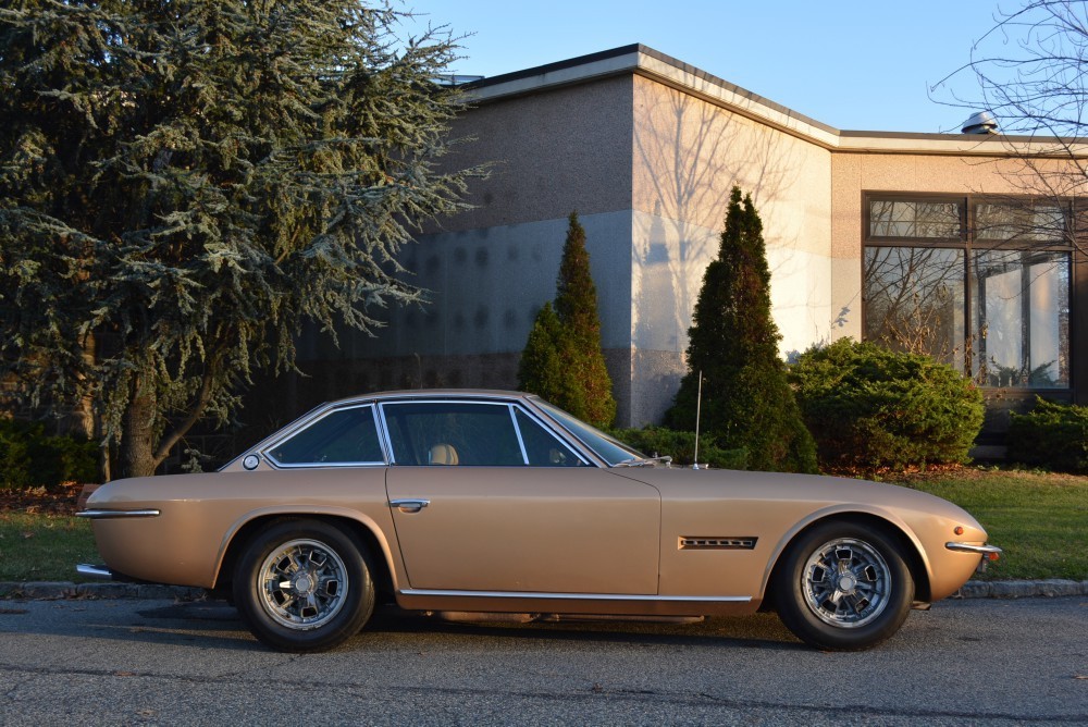
[[[1088,580],[973,580],[953,599],[1030,599],[1088,595]],[[153,583],[72,583],[69,581],[0,582],[0,599],[61,601],[65,599],[141,599],[203,601],[202,588],[158,586]]]

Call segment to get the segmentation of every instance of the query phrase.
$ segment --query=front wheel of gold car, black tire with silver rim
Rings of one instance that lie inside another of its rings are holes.
[[[803,532],[786,550],[772,588],[787,628],[827,651],[885,641],[914,601],[914,579],[895,541],[860,522],[831,521]]]

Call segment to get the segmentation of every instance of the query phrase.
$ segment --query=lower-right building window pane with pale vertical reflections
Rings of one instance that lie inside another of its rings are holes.
[[[1070,385],[1067,252],[977,252],[972,270],[976,381],[984,386]]]

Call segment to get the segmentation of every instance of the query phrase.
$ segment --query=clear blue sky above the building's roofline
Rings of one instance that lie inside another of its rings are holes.
[[[1018,7],[1003,0],[1002,10]],[[969,110],[930,87],[970,59],[993,25],[992,0],[406,0],[418,22],[448,25],[452,71],[495,76],[641,42],[831,126],[959,131]],[[410,28],[406,28],[410,30]]]

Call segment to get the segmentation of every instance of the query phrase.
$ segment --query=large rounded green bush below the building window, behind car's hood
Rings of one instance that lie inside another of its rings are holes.
[[[928,356],[843,338],[802,354],[790,379],[825,467],[962,463],[982,428],[978,389]]]

